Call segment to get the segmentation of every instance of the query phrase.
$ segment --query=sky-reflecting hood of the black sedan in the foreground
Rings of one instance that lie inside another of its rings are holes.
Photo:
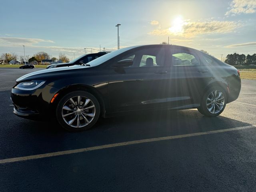
[[[67,72],[71,72],[72,70],[79,70],[82,68],[90,68],[90,66],[82,66],[82,65],[73,65],[68,67],[58,67],[58,68],[50,68],[50,69],[44,69],[36,72],[32,72],[29,74],[26,74],[16,80],[16,82],[24,81],[24,80],[36,80],[36,79],[42,79],[43,77],[48,77],[52,75],[57,74],[65,74]]]

